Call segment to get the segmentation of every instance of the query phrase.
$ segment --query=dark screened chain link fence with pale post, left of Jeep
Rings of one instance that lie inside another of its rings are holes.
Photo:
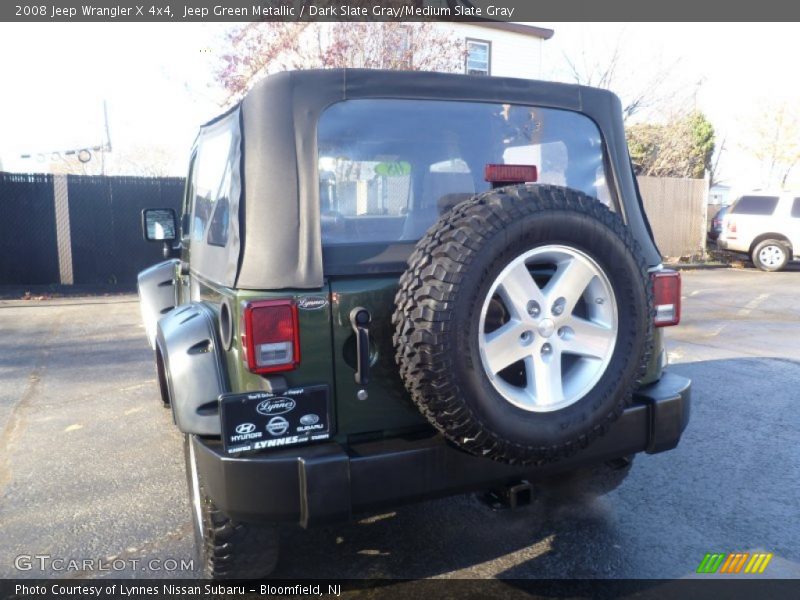
[[[130,288],[162,259],[144,208],[180,213],[181,178],[0,173],[0,284]]]

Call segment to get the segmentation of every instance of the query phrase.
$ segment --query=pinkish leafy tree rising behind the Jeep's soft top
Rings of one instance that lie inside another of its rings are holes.
[[[276,71],[361,67],[457,72],[463,40],[436,23],[249,23],[228,33],[216,78],[227,103]]]

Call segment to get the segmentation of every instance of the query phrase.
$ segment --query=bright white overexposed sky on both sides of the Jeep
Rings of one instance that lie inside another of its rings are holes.
[[[602,61],[619,48],[617,85],[664,74],[709,117],[725,140],[720,177],[755,185],[758,165],[746,150],[752,119],[776,99],[800,106],[793,67],[799,24],[536,23],[555,30],[543,44],[543,79],[570,80],[565,57]],[[41,170],[36,158],[99,145],[103,101],[119,153],[159,147],[183,174],[198,126],[220,111],[212,68],[224,24],[0,24],[0,163]],[[13,82],[13,83],[9,83]],[[657,111],[639,118],[658,119]]]

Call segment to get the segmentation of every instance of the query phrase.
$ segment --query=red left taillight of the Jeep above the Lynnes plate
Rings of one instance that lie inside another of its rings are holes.
[[[297,305],[291,300],[248,302],[242,315],[242,349],[253,373],[291,371],[300,363]]]

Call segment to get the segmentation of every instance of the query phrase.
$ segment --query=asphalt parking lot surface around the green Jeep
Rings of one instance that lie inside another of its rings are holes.
[[[667,337],[693,406],[676,450],[640,455],[620,489],[592,500],[494,512],[465,495],[287,527],[275,576],[680,578],[707,552],[764,551],[766,575],[800,577],[800,269],[683,282],[683,323]],[[192,557],[192,532],[182,442],[136,298],[0,301],[0,381],[0,576],[110,574],[15,568],[34,554],[189,575],[163,568]]]

